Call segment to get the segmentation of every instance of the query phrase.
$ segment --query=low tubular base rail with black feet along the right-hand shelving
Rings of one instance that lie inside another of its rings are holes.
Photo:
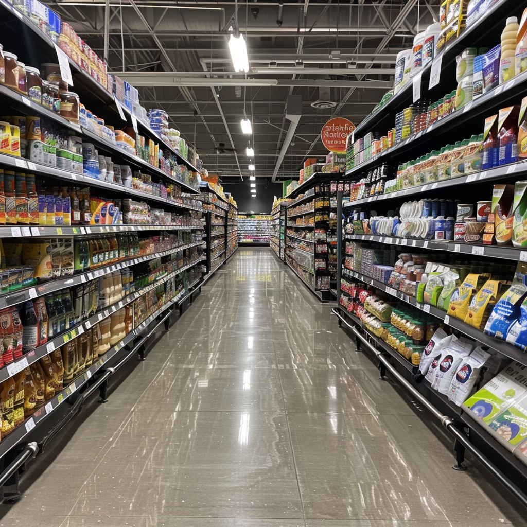
[[[456,421],[455,419],[452,419],[448,417],[447,415],[443,415],[441,412],[437,410],[437,408],[432,405],[429,401],[427,401],[426,398],[423,397],[421,393],[419,393],[414,386],[412,386],[395,368],[394,366],[389,362],[388,358],[384,355],[383,352],[378,350],[375,346],[373,346],[365,337],[364,335],[360,334],[359,331],[355,326],[352,324],[349,324],[348,321],[338,312],[337,309],[333,308],[331,309],[331,312],[340,320],[341,323],[345,324],[349,331],[351,331],[356,339],[359,339],[361,343],[363,343],[379,360],[379,365],[382,366],[380,368],[382,377],[384,376],[383,371],[386,372],[388,370],[394,377],[397,379],[397,381],[403,385],[409,393],[412,394],[413,397],[419,401],[425,408],[428,409],[434,417],[436,417],[441,424],[446,428],[446,430],[452,434],[456,440],[454,450],[456,452],[456,459],[457,463],[453,466],[454,470],[466,470],[466,467],[463,465],[464,461],[464,455],[465,450],[468,450],[489,472],[491,472],[494,477],[500,483],[502,483],[503,486],[506,487],[506,489],[511,492],[511,494],[516,497],[516,499],[522,503],[525,507],[527,507],[527,495],[525,494],[525,491],[522,491],[518,485],[513,483],[508,476],[506,476],[492,461],[489,460],[485,454],[483,454],[476,446],[474,446],[470,441],[469,438],[465,434],[463,434],[460,431],[460,427],[462,428],[465,426],[464,424],[460,423],[459,421]]]

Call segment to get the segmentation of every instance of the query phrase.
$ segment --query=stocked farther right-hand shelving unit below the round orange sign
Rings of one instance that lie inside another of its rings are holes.
[[[308,186],[302,183],[291,192],[296,199],[287,206],[285,239],[286,263],[325,302],[336,301],[337,222],[331,176],[338,174],[315,174]]]

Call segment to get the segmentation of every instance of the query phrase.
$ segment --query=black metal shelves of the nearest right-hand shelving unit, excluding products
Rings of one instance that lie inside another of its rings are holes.
[[[500,42],[500,33],[505,26],[508,16],[521,16],[525,5],[519,5],[503,0],[496,3],[476,23],[464,31],[460,37],[448,43],[441,52],[440,57],[434,59],[422,74],[414,81],[418,83],[421,93],[426,93],[427,99],[436,101],[446,91],[451,91],[455,86],[455,57],[466,47],[479,47],[496,45]],[[442,60],[440,83],[428,90],[430,71]],[[525,92],[525,73],[513,77],[512,80],[501,84],[485,95],[465,105],[462,109],[454,111],[440,121],[430,124],[427,128],[409,136],[407,139],[396,143],[393,147],[384,150],[372,159],[355,165],[346,171],[346,177],[358,181],[372,174],[373,170],[386,163],[395,174],[397,167],[411,159],[418,159],[431,150],[439,150],[447,143],[453,144],[461,141],[471,134],[483,132],[486,116],[496,114],[498,110],[512,104],[521,104]],[[412,104],[415,86],[410,82],[403,90],[392,97],[382,108],[368,116],[355,130],[355,138],[362,138],[369,132],[382,136],[386,130],[392,129],[395,124],[395,115]],[[428,181],[416,186],[399,188],[392,192],[370,194],[360,199],[355,199],[344,204],[343,212],[346,217],[370,218],[400,216],[399,208],[403,202],[427,199],[453,199],[460,197],[462,202],[474,203],[489,201],[493,193],[494,183],[514,183],[525,178],[527,162],[520,161],[508,165],[494,167],[471,174],[462,174],[461,177]],[[395,175],[388,179],[395,178]],[[463,197],[464,196],[464,197]],[[344,196],[346,197],[346,196]],[[348,195],[349,197],[349,195]],[[404,221],[404,220],[402,220]],[[359,231],[362,232],[362,231]],[[355,282],[374,292],[380,292],[388,300],[398,300],[413,306],[428,316],[437,319],[446,327],[470,337],[477,344],[489,349],[491,353],[504,360],[512,360],[527,365],[525,353],[514,345],[483,333],[482,330],[466,324],[464,320],[449,316],[442,309],[429,304],[417,302],[414,296],[405,294],[398,287],[369,276],[369,272],[359,272],[353,268],[353,242],[367,242],[367,246],[375,249],[389,249],[392,261],[387,267],[393,265],[393,257],[401,252],[417,252],[430,255],[429,261],[456,261],[465,264],[475,262],[481,266],[490,266],[502,261],[503,265],[513,265],[515,261],[525,261],[527,251],[502,245],[483,245],[480,243],[466,243],[463,240],[447,241],[443,239],[425,239],[416,237],[405,239],[398,238],[394,232],[390,236],[367,230],[365,234],[355,232],[353,229],[342,232],[339,226],[338,251],[341,256],[341,280]],[[453,255],[452,253],[456,253]],[[445,257],[444,260],[441,256]],[[435,260],[434,258],[438,258]],[[512,278],[512,277],[511,277]],[[403,384],[413,395],[416,394],[419,403],[423,401],[436,416],[445,416],[442,421],[445,427],[456,437],[456,451],[458,465],[462,455],[460,452],[471,451],[482,464],[488,467],[495,476],[511,490],[523,503],[527,502],[525,488],[527,484],[527,467],[518,458],[513,457],[501,443],[488,433],[484,427],[474,421],[473,416],[465,413],[461,407],[448,401],[447,397],[438,393],[427,382],[417,384],[413,375],[416,368],[396,350],[392,349],[381,338],[373,335],[364,327],[359,318],[349,313],[346,308],[350,304],[349,294],[343,291],[341,283],[338,284],[338,306],[334,313],[339,319],[339,325],[345,327],[353,335],[357,347],[369,349],[375,359],[380,360],[381,375],[388,371]]]

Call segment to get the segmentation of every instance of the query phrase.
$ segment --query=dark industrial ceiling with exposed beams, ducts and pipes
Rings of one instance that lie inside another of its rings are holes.
[[[395,58],[437,21],[441,0],[310,2],[47,1],[138,87],[147,110],[168,112],[224,182],[286,180],[323,157],[323,124],[358,124],[392,87]],[[236,73],[228,38],[247,40],[249,72]],[[288,95],[301,113],[286,115]],[[244,111],[252,135],[241,133]],[[248,158],[246,148],[255,150]]]

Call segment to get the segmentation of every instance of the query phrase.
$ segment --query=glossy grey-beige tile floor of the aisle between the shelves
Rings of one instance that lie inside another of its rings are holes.
[[[0,526],[527,526],[270,249],[240,248],[59,441]]]

